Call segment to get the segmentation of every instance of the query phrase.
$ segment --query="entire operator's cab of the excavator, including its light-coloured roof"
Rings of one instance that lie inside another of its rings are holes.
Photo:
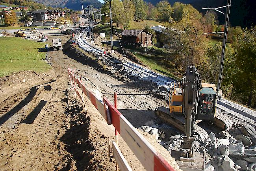
[[[200,90],[197,120],[212,120],[215,116],[217,91],[214,84],[202,83]]]

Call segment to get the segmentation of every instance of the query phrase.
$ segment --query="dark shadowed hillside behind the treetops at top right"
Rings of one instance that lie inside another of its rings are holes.
[[[156,5],[160,0],[145,0]],[[174,2],[182,2],[184,4],[191,4],[199,12],[205,14],[206,10],[202,7],[221,7],[226,5],[226,0],[168,0],[171,4]],[[254,10],[256,3],[254,0],[232,0],[230,9],[230,24],[231,26],[241,26],[242,28],[255,25],[256,17]],[[224,9],[220,9],[224,12]],[[224,15],[217,13],[220,24],[224,23]]]

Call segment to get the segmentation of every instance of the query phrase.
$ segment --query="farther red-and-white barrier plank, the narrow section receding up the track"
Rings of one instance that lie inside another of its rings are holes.
[[[74,76],[74,74],[72,74],[72,72],[70,72],[69,68],[68,68],[68,72],[69,72],[71,79],[75,83],[77,83],[77,85],[82,89],[82,92],[88,97],[88,99],[91,101],[91,103],[93,103],[93,105],[96,107],[96,109],[100,112],[100,114],[103,116],[103,118],[107,121],[108,125],[111,125],[111,118],[110,118],[108,106],[104,105],[104,103],[101,99],[98,99],[97,97],[95,97],[94,94],[90,90],[85,88],[83,83],[80,80],[78,80]]]

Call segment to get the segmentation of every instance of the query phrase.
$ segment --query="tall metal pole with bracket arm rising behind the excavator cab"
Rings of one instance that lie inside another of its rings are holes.
[[[218,83],[217,83],[217,96],[219,97],[219,99],[221,99],[221,96],[222,96],[221,81],[223,77],[223,65],[224,65],[227,33],[228,33],[228,20],[229,20],[230,6],[231,6],[231,0],[227,0],[226,6],[223,6],[223,7],[226,7],[226,13],[225,13],[224,34],[223,34],[222,49],[221,49],[221,63],[219,67],[219,77],[218,77]],[[212,9],[212,10],[218,11],[219,13],[224,14],[223,12],[218,10],[223,7],[202,8],[202,9],[207,9],[207,10]]]

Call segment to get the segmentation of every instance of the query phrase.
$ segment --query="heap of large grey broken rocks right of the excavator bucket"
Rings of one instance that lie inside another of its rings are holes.
[[[211,132],[209,139],[202,145],[211,154],[211,164],[216,170],[256,171],[256,147],[249,147],[252,142],[248,136],[237,135],[236,138],[222,131],[223,139],[217,139]],[[235,162],[234,162],[235,161]]]

